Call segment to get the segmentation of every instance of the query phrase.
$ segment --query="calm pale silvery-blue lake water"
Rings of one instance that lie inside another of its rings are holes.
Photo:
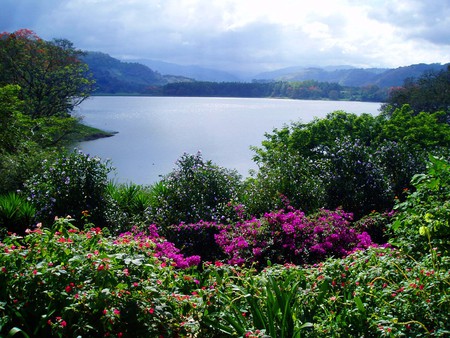
[[[152,184],[175,168],[183,153],[237,169],[256,169],[250,146],[291,122],[309,122],[335,110],[377,114],[379,103],[198,97],[92,97],[78,108],[84,123],[117,135],[82,142],[79,149],[110,159],[115,180]]]

